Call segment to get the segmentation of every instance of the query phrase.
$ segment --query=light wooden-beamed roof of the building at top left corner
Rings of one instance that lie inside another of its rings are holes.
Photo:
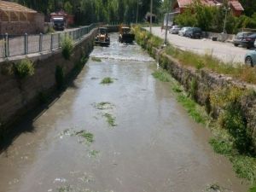
[[[18,3],[0,1],[0,9],[3,11],[15,11],[23,13],[38,13],[35,10],[28,9],[25,6],[22,6]]]

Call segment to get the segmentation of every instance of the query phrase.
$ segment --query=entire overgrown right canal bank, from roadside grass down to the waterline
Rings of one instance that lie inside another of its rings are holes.
[[[256,183],[254,69],[220,66],[222,63],[218,64],[212,55],[195,55],[172,45],[160,48],[163,39],[139,27],[135,27],[135,32],[137,43],[183,85],[186,97],[205,108],[209,118],[205,125],[214,132],[210,141],[214,150],[233,162],[240,177]]]

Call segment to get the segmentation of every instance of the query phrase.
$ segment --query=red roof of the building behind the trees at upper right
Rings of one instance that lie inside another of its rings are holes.
[[[177,0],[177,4],[179,8],[185,8],[188,7],[189,4],[193,3],[194,0]],[[204,5],[209,5],[209,6],[214,6],[219,3],[222,3],[221,0],[200,0],[202,4]],[[229,0],[230,6],[235,9],[235,10],[241,10],[243,11],[244,9],[241,6],[241,3],[239,3],[238,0]]]

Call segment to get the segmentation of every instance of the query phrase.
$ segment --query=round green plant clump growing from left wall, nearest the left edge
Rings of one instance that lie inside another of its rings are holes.
[[[34,74],[34,66],[32,61],[29,59],[21,60],[20,63],[15,65],[15,74],[20,78],[24,79]]]

